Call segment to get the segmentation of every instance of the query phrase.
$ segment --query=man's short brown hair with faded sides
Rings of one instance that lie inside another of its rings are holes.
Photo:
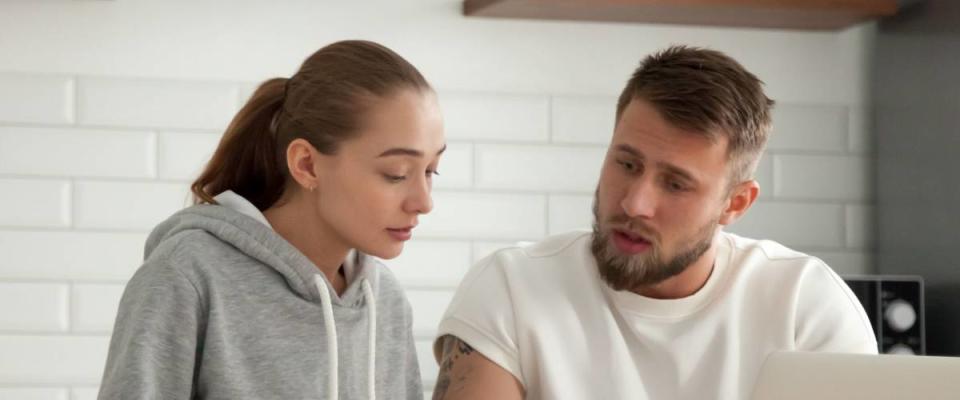
[[[771,130],[773,100],[763,81],[719,51],[671,46],[647,56],[617,101],[617,123],[634,99],[663,118],[711,140],[728,139],[730,186],[753,177]]]

